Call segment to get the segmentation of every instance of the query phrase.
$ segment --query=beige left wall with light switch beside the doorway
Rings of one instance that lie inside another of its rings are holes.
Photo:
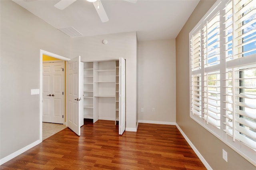
[[[70,38],[11,0],[0,1],[0,159],[39,141],[40,49],[71,54]]]

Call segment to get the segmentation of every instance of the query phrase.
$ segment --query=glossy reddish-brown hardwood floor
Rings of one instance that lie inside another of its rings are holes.
[[[84,122],[81,136],[65,128],[0,169],[206,169],[176,126],[139,123],[120,136],[114,121]]]

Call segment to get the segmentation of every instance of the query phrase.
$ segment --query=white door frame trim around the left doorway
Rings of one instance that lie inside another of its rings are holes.
[[[40,91],[39,91],[39,103],[40,103],[40,116],[39,116],[39,125],[40,125],[40,132],[39,132],[39,140],[40,142],[42,142],[42,135],[43,135],[43,123],[42,123],[42,119],[43,119],[43,54],[44,55],[48,55],[50,57],[54,57],[54,58],[58,58],[64,61],[68,61],[70,60],[67,57],[63,57],[61,55],[58,54],[54,54],[45,50],[40,49]]]

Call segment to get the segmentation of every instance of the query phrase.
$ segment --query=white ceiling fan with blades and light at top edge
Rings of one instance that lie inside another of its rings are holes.
[[[98,15],[100,17],[100,20],[102,22],[108,22],[108,16],[103,8],[103,5],[101,3],[100,0],[87,0],[88,2],[92,2],[96,11],[98,12]],[[132,2],[132,3],[136,3],[137,0],[125,0],[127,2]],[[71,4],[73,4],[74,2],[76,2],[76,0],[60,0],[60,2],[58,2],[57,4],[55,4],[54,6],[60,10],[64,10],[65,8],[67,8],[68,6],[70,6]]]

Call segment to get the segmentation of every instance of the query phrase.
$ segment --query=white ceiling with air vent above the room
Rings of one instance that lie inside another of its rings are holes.
[[[13,0],[53,27],[73,27],[82,36],[137,32],[139,41],[176,38],[199,0],[101,0],[109,21],[102,23],[92,2],[77,0],[64,10],[59,0]]]

